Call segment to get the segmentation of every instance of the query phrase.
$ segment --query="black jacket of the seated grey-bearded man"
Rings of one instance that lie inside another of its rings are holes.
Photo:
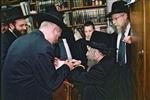
[[[113,58],[104,57],[89,72],[82,67],[75,68],[70,81],[84,86],[83,100],[112,100]]]

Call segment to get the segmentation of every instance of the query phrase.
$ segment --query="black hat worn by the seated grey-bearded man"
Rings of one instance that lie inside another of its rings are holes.
[[[105,55],[110,55],[111,49],[104,43],[97,43],[93,41],[86,41],[86,44],[92,48],[98,49],[101,53]]]

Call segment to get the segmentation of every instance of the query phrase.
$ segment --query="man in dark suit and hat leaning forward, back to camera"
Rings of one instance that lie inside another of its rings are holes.
[[[74,69],[56,59],[54,44],[64,27],[57,12],[39,13],[39,29],[16,39],[2,69],[3,100],[53,100],[52,93]]]

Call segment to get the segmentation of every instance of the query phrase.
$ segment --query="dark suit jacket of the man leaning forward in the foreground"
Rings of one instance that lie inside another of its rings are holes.
[[[52,92],[69,72],[55,70],[54,48],[40,31],[18,38],[8,50],[2,70],[4,100],[52,100]]]

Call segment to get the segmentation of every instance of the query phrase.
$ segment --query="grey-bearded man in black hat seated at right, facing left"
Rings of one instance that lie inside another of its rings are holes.
[[[114,60],[107,45],[97,42],[87,42],[88,59],[95,64],[87,72],[82,66],[72,70],[70,81],[83,86],[82,100],[114,100],[112,99],[113,64]]]

